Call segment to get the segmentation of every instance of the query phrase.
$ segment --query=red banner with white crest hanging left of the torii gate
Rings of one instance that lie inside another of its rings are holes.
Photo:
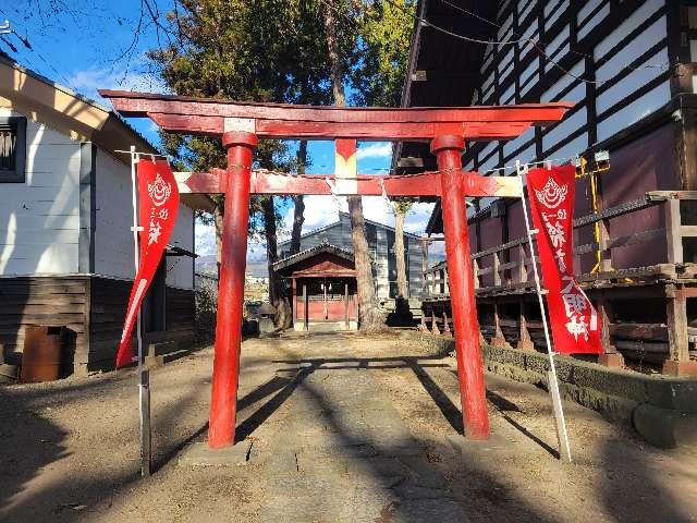
[[[117,368],[133,362],[131,333],[145,293],[160,265],[167,243],[174,230],[179,210],[179,190],[167,160],[140,159],[138,161],[138,221],[143,230],[140,265],[133,281],[123,335],[117,356]]]

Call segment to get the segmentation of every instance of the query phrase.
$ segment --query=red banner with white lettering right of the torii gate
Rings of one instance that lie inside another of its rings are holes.
[[[574,279],[574,166],[534,169],[527,174],[537,250],[547,288],[554,350],[561,354],[601,354],[596,309]]]

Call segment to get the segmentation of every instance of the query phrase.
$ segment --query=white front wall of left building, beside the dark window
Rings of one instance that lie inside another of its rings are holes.
[[[0,275],[75,273],[80,143],[28,120],[26,155],[25,182],[0,183]]]

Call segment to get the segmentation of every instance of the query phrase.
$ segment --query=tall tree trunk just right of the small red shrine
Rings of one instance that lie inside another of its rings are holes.
[[[329,50],[329,72],[331,89],[335,106],[345,105],[343,73],[337,41],[337,27],[331,9],[323,9],[325,31],[327,32],[327,47]],[[384,316],[378,307],[375,297],[372,279],[372,260],[368,253],[366,240],[366,224],[363,217],[363,202],[360,196],[348,196],[348,216],[351,217],[351,238],[353,240],[353,255],[356,265],[356,287],[358,291],[358,321],[360,330],[376,331],[384,328]]]

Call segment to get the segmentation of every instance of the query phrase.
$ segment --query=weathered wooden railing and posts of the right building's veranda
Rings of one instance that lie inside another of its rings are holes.
[[[651,207],[662,209],[664,227],[612,235],[612,219],[627,217]],[[695,210],[697,191],[652,191],[641,198],[574,220],[574,230],[588,226],[595,228],[596,224],[598,227],[598,241],[577,245],[574,255],[599,252],[597,270],[577,275],[577,280],[584,289],[590,291],[596,303],[603,323],[603,344],[608,354],[614,354],[616,345],[629,354],[633,351],[648,351],[663,353],[664,358],[674,362],[689,361],[689,343],[697,341],[697,328],[688,326],[687,317],[687,300],[697,297],[697,264],[693,263],[697,259],[694,257],[697,254],[697,241],[693,244],[690,240],[697,239],[697,224],[692,223],[695,221]],[[660,239],[664,241],[657,242]],[[612,268],[613,250],[648,242],[663,245],[662,263]],[[538,321],[526,318],[523,301],[519,317],[513,321],[500,318],[497,309],[499,297],[510,301],[512,296],[530,295],[535,292],[533,258],[527,236],[474,253],[472,263],[478,303],[489,303],[494,308],[493,340],[500,341],[503,338],[502,327],[513,327],[509,324],[514,324],[518,330],[518,341],[529,341],[527,331]],[[597,292],[594,294],[594,291]],[[616,295],[613,295],[613,292]],[[620,294],[622,300],[632,300],[634,296],[637,300],[646,296],[664,299],[664,321],[613,324],[611,301]],[[442,262],[424,271],[425,308],[435,303],[444,304],[449,297],[448,267],[447,263]],[[435,317],[432,311],[431,316]],[[439,313],[439,316],[442,317],[442,314]]]

